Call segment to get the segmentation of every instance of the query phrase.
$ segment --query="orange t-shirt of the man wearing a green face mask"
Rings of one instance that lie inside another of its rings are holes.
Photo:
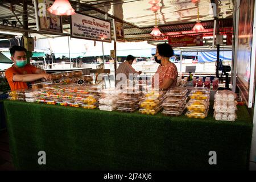
[[[7,78],[7,81],[9,82],[11,90],[18,90],[18,89],[27,89],[27,82],[23,81],[13,81],[13,76],[18,75],[26,75],[26,74],[35,74],[36,67],[32,66],[31,64],[26,64],[24,68],[15,68],[12,66],[11,68],[8,68],[5,72],[5,76]]]

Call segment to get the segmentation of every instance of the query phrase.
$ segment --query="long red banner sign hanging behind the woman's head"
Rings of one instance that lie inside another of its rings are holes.
[[[172,47],[203,46],[203,34],[195,36],[169,37]]]

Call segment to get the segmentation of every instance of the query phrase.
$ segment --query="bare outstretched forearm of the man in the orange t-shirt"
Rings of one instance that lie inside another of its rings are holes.
[[[41,78],[46,78],[47,81],[51,80],[51,75],[46,73],[39,73],[39,74],[26,74],[26,75],[14,75],[13,81],[22,81],[22,82],[28,82],[28,81],[35,81],[39,80]]]

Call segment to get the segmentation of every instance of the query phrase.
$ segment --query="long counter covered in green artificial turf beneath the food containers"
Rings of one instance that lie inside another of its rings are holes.
[[[248,169],[253,123],[245,106],[235,122],[89,110],[6,100],[16,169]],[[38,152],[46,152],[46,165]],[[217,165],[209,152],[216,151]]]

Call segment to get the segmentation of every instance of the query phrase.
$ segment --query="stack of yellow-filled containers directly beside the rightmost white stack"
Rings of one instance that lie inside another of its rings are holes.
[[[208,88],[194,88],[189,94],[191,100],[187,104],[187,117],[205,118],[209,110],[210,91]]]

